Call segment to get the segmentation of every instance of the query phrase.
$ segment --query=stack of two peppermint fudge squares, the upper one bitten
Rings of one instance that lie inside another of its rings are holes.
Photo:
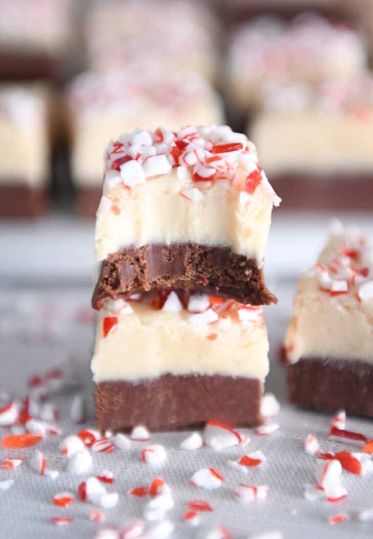
[[[261,423],[264,255],[279,198],[228,126],[110,142],[96,220],[100,429]]]

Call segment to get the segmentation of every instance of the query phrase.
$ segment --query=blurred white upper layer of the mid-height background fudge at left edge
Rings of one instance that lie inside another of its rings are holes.
[[[39,86],[0,88],[0,186],[43,186],[49,161],[48,94]]]

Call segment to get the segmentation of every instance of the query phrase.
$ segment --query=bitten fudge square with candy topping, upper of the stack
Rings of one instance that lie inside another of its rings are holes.
[[[118,137],[97,211],[93,307],[159,288],[275,302],[263,265],[279,202],[254,144],[228,126]]]

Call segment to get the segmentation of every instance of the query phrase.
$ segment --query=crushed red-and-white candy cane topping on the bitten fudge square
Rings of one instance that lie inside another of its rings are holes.
[[[224,180],[247,199],[261,185],[272,204],[280,203],[259,166],[254,144],[229,126],[216,125],[186,126],[178,132],[136,129],[119,136],[105,153],[104,195],[118,186],[136,188],[148,178],[171,174],[172,169],[177,178],[195,182],[195,188],[180,192],[189,202],[203,199],[199,189],[203,183]]]

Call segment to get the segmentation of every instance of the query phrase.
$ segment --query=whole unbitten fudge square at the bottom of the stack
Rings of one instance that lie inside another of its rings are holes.
[[[261,307],[175,291],[109,300],[92,361],[98,427],[258,425],[268,348]]]

